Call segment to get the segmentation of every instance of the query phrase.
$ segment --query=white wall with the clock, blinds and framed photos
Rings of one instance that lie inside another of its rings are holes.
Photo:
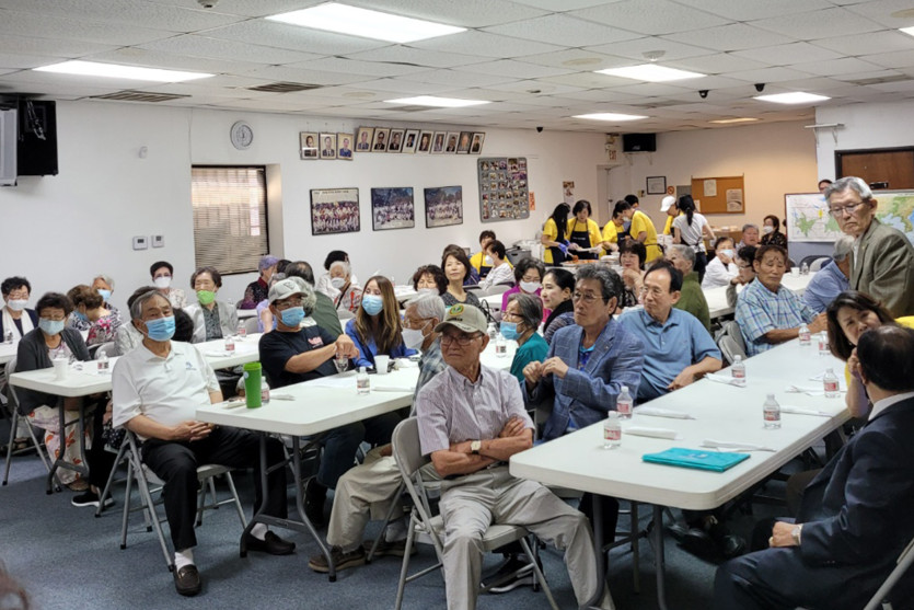
[[[484,228],[496,231],[506,244],[532,238],[560,200],[563,181],[575,181],[576,196],[594,199],[597,165],[603,158],[602,134],[475,129],[487,134],[485,156],[528,158],[529,184],[536,198],[536,210],[528,220],[483,225],[476,156],[357,154],[351,162],[299,159],[299,131],[352,131],[377,122],[102,102],[59,102],[57,112],[60,174],[23,177],[18,187],[0,189],[0,277],[28,277],[33,302],[45,291],[66,291],[102,272],[117,280],[114,302],[123,306],[136,287],[149,280],[149,265],[160,258],[175,266],[177,286],[186,289],[194,266],[190,165],[195,163],[277,165],[281,184],[271,185],[270,194],[281,193],[281,222],[271,227],[280,232],[281,248],[275,253],[309,261],[315,273],[322,273],[326,253],[345,250],[361,278],[382,269],[403,283],[418,265],[438,263],[448,243],[477,249],[476,238]],[[254,129],[254,143],[246,151],[235,150],[229,141],[229,128],[240,119]],[[402,125],[424,126],[429,127]],[[148,147],[146,159],[138,154],[142,146]],[[455,184],[463,186],[464,223],[426,229],[423,188]],[[416,228],[372,231],[372,186],[413,186]],[[310,189],[333,187],[359,188],[361,231],[312,237]],[[164,248],[132,251],[132,235],[159,233],[165,237]],[[276,238],[271,235],[274,244]],[[224,278],[224,295],[239,299],[254,277]]]

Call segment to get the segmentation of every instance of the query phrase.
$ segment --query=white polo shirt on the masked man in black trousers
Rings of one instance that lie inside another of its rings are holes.
[[[115,426],[146,415],[163,426],[196,419],[197,407],[219,390],[212,367],[189,343],[171,342],[161,358],[140,344],[117,359],[112,372]]]

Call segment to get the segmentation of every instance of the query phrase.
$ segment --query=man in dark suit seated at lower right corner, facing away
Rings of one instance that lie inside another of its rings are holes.
[[[796,523],[776,522],[768,549],[718,569],[717,610],[859,610],[914,537],[914,331],[867,331],[857,357],[869,422],[806,488]],[[892,598],[914,606],[911,575]]]

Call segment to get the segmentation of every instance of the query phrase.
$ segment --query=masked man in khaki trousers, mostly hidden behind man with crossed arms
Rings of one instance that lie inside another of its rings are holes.
[[[444,303],[437,295],[419,295],[406,303],[403,338],[408,347],[421,349],[419,378],[416,394],[436,375],[444,370],[441,342],[435,327],[444,319]],[[415,412],[410,414],[415,416]],[[426,469],[425,474],[433,472]],[[393,459],[391,446],[375,447],[365,456],[361,465],[349,469],[339,477],[333,496],[333,511],[327,526],[327,544],[337,572],[365,564],[366,553],[373,541],[362,543],[369,518],[379,520],[387,515],[392,503],[400,503],[397,495],[403,476]],[[393,515],[402,515],[394,510]],[[383,532],[374,556],[402,557],[406,551],[408,517],[393,519]],[[329,572],[327,559],[316,554],[308,562],[314,572]]]

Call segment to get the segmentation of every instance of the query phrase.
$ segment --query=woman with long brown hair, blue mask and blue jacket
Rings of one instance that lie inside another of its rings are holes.
[[[359,350],[356,367],[374,368],[374,357],[380,355],[407,358],[416,353],[403,343],[400,322],[400,303],[391,280],[375,275],[365,285],[362,302],[356,316],[346,322],[346,334]]]

